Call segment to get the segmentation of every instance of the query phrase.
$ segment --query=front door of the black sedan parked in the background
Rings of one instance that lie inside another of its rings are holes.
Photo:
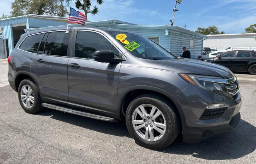
[[[222,55],[214,57],[214,60],[212,60],[211,62],[223,65],[225,67],[228,67],[230,70],[232,70],[235,54],[236,54],[236,51],[228,51],[223,53]]]

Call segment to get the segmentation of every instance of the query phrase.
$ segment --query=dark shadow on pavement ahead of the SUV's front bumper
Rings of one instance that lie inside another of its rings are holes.
[[[241,120],[236,130],[208,140],[187,144],[178,138],[160,152],[191,154],[206,160],[229,160],[248,155],[256,149],[256,127]]]

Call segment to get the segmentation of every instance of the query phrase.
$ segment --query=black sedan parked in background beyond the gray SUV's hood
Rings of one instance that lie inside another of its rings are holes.
[[[231,71],[249,72],[252,75],[256,75],[256,51],[227,51],[216,57],[200,60],[223,65]]]

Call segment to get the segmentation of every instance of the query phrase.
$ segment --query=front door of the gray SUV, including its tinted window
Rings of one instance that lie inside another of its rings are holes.
[[[77,31],[74,53],[68,61],[68,98],[70,106],[104,111],[116,109],[120,63],[94,60],[96,50],[119,51],[98,32]]]

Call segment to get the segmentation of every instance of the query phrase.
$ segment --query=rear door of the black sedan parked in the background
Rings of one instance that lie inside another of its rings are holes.
[[[250,59],[252,59],[252,54],[249,51],[238,51],[234,58],[234,71],[248,71]]]

